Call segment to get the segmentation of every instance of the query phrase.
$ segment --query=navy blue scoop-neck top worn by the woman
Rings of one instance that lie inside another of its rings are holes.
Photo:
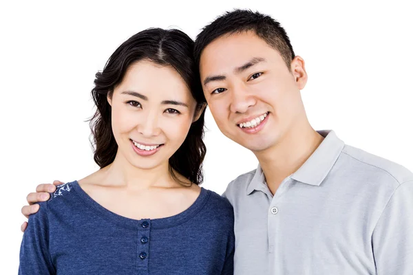
[[[233,274],[233,209],[202,188],[184,212],[128,219],[63,184],[29,218],[19,274]]]

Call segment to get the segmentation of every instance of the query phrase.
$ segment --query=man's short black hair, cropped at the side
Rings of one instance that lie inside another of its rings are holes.
[[[273,18],[251,10],[226,12],[205,26],[195,40],[195,62],[200,65],[202,51],[209,43],[224,34],[253,31],[281,54],[288,69],[295,57],[293,46],[284,28]]]

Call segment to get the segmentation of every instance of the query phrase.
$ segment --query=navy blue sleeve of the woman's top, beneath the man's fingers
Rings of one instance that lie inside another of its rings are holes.
[[[49,251],[49,221],[47,203],[29,217],[20,248],[19,275],[56,274]]]

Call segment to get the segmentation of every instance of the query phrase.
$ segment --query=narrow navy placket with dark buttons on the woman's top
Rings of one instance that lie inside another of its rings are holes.
[[[141,220],[138,225],[138,245],[137,245],[137,259],[136,266],[139,274],[147,274],[148,272],[148,258],[149,258],[149,241],[151,232],[151,220]]]

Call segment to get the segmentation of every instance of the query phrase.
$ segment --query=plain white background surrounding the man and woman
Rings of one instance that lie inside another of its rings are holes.
[[[0,274],[16,274],[20,214],[37,184],[96,170],[87,118],[94,74],[129,36],[179,28],[193,39],[225,10],[271,14],[306,61],[315,129],[413,170],[410,1],[13,1],[0,4]],[[207,111],[202,186],[223,192],[257,165]]]

